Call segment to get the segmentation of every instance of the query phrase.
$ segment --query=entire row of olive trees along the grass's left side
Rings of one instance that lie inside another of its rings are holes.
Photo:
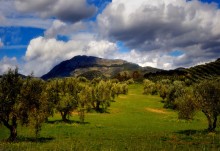
[[[10,130],[9,141],[16,140],[18,124],[34,128],[38,137],[42,124],[55,112],[64,122],[78,112],[83,123],[86,112],[107,112],[115,97],[127,93],[128,85],[118,80],[69,77],[43,81],[22,78],[17,69],[10,69],[0,78],[0,124]]]

